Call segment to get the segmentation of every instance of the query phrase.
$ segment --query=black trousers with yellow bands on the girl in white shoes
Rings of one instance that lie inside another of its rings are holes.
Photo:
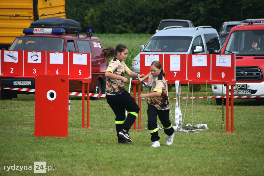
[[[158,110],[155,106],[148,104],[148,129],[151,134],[150,140],[152,142],[158,141],[160,139],[157,127],[157,116],[159,115],[159,120],[164,128],[166,135],[172,135],[174,129],[172,128],[171,121],[169,121],[169,109]]]

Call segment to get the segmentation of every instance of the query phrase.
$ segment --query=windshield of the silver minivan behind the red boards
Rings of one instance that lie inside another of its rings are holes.
[[[144,48],[144,52],[187,52],[190,48],[190,36],[155,36]]]

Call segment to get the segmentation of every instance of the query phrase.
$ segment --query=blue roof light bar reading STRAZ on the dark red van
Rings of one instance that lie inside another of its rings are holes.
[[[51,29],[51,28],[25,28],[24,34],[64,34],[66,33],[63,28]]]

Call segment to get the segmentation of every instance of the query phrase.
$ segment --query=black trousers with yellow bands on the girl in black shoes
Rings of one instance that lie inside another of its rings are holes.
[[[138,117],[139,106],[127,91],[118,95],[106,95],[106,100],[116,116],[115,124],[117,138],[123,140],[118,133],[121,129],[129,131],[136,117]],[[126,110],[128,111],[127,117],[125,114]]]

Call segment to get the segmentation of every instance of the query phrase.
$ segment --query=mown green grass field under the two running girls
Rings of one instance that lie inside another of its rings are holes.
[[[202,92],[194,96],[206,96],[205,90],[204,85]],[[187,86],[182,87],[185,96]],[[176,95],[170,92],[169,97]],[[225,132],[222,106],[214,99],[210,103],[195,99],[193,107],[190,99],[187,107],[182,99],[182,114],[186,108],[183,125],[206,123],[209,130],[177,132],[172,146],[166,146],[166,135],[161,130],[161,147],[152,148],[145,100],[141,107],[142,130],[133,130],[132,126],[133,143],[117,144],[115,116],[105,98],[90,101],[91,128],[82,129],[81,97],[70,96],[68,137],[62,138],[34,137],[34,98],[19,95],[1,101],[0,175],[33,175],[34,161],[54,166],[54,170],[46,171],[47,175],[263,175],[263,99],[234,100],[234,133]],[[170,104],[174,116],[175,100]],[[4,170],[4,166],[14,164],[32,166],[32,170]]]

